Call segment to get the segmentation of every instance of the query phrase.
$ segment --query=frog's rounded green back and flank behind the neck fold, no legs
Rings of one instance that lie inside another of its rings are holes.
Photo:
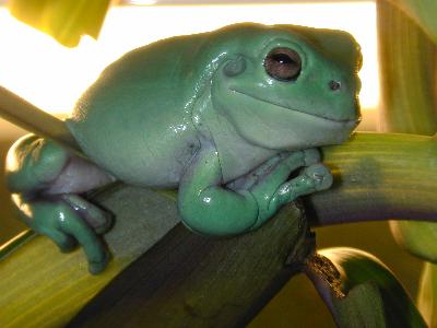
[[[199,148],[189,106],[196,79],[182,72],[194,38],[128,52],[102,73],[67,120],[85,154],[119,179],[174,187]]]

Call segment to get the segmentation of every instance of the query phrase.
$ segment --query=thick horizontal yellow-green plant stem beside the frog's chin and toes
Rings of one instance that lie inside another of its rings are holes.
[[[356,133],[323,148],[334,174],[331,189],[306,199],[312,224],[374,220],[437,220],[437,140],[394,133]]]

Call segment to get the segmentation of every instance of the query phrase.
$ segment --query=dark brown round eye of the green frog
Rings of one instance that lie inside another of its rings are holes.
[[[302,70],[299,54],[290,48],[274,48],[264,59],[267,73],[279,81],[296,81]]]

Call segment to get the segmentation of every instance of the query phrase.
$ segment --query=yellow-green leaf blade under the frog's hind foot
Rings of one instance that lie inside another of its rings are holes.
[[[82,249],[62,254],[43,236],[25,234],[24,241],[0,250],[0,327],[64,326],[178,223],[172,198],[170,194],[123,186],[98,196],[98,202],[118,219],[105,235],[113,259],[98,276],[90,274]]]

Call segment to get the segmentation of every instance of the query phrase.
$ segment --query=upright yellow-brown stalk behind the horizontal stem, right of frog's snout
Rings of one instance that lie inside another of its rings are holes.
[[[437,47],[390,2],[378,1],[377,8],[381,130],[432,136],[437,131]]]

